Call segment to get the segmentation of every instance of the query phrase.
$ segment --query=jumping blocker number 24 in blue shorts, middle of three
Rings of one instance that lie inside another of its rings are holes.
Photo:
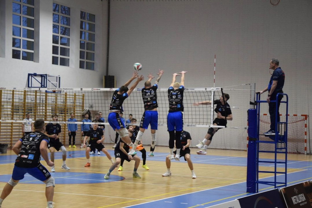
[[[152,73],[149,73],[149,80],[144,83],[144,87],[142,88],[142,98],[144,103],[144,114],[142,116],[140,122],[140,130],[138,132],[137,138],[135,140],[135,144],[139,144],[142,139],[143,133],[145,129],[151,125],[151,135],[152,135],[152,143],[149,156],[154,156],[155,144],[156,144],[156,130],[158,126],[158,111],[157,111],[157,88],[158,82],[163,75],[163,70],[159,69],[159,73],[157,74],[158,78],[155,81],[155,84],[152,86],[151,80],[154,78]]]

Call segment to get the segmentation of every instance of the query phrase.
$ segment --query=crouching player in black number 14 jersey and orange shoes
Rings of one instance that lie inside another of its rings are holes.
[[[89,144],[88,146],[85,145],[85,142],[87,139],[90,137]],[[107,152],[105,149],[103,142],[104,142],[104,134],[103,130],[98,128],[97,124],[93,124],[92,129],[90,129],[86,135],[85,139],[83,140],[83,147],[85,148],[85,157],[87,158],[87,164],[85,164],[85,167],[90,167],[90,150],[91,149],[97,149],[97,150],[102,150],[106,154],[106,157],[110,160],[110,162],[114,163],[112,157],[110,154]]]

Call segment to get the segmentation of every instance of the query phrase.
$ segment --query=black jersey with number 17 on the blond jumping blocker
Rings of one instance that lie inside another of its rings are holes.
[[[184,111],[183,107],[183,92],[184,86],[180,86],[178,89],[169,87],[168,100],[169,100],[169,112]]]

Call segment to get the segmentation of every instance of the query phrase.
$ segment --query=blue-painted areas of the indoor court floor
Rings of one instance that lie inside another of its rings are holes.
[[[114,151],[108,150],[108,152],[113,156]],[[137,154],[141,157],[141,153]],[[156,152],[154,157],[149,157],[149,161],[165,161],[167,153]],[[55,153],[55,159],[61,159],[61,152]],[[67,151],[68,158],[81,158],[85,159],[85,151]],[[104,153],[101,152],[101,155],[90,155],[90,159],[93,157],[106,157]],[[0,164],[14,163],[16,155],[6,155],[0,154]],[[222,166],[241,166],[246,167],[247,157],[238,156],[238,157],[229,157],[229,156],[217,156],[217,155],[197,155],[192,154],[191,156],[193,164],[211,164],[211,165],[222,165]],[[268,161],[273,161],[272,159],[266,159]],[[181,158],[181,161],[172,161],[172,163],[187,163],[184,161],[184,158]],[[272,163],[261,163],[263,167],[274,166]],[[279,167],[284,167],[281,164]],[[304,182],[312,180],[312,160],[310,157],[307,157],[305,161],[299,160],[288,160],[287,162],[288,174],[287,174],[287,183],[293,185],[295,183]],[[195,170],[196,171],[196,170]],[[105,183],[105,182],[114,182],[124,180],[124,177],[116,176],[113,174],[110,175],[109,180],[104,179],[104,174],[99,173],[83,173],[83,172],[56,172],[51,173],[55,177],[56,184],[82,184],[82,183]],[[0,175],[1,182],[7,182],[10,179],[10,174]],[[230,177],[230,176],[228,176]],[[282,181],[284,176],[277,176],[277,181]],[[197,179],[193,180],[205,180],[197,176]],[[266,181],[274,181],[274,177],[266,177]],[[40,181],[35,181],[31,176],[25,176],[21,183],[42,183]],[[274,187],[268,185],[259,184],[259,191],[271,190]],[[156,194],[156,193],[155,193]],[[232,201],[237,198],[241,198],[250,193],[246,193],[246,182],[239,182],[232,185],[220,186],[211,189],[203,189],[202,191],[197,191],[193,193],[188,193],[184,195],[164,198],[157,201],[150,201],[134,206],[135,208],[145,208],[149,206],[150,208],[159,208],[159,207],[179,207],[179,208],[190,208],[190,207],[208,207],[212,205],[221,204],[227,201]]]

